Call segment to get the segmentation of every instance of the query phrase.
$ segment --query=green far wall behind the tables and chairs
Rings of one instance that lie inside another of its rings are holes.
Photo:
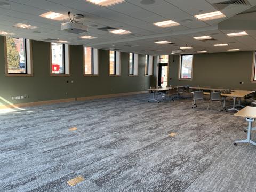
[[[255,90],[256,84],[251,83],[252,63],[253,51],[194,54],[193,81],[185,81],[178,79],[179,55],[170,55],[169,85]]]

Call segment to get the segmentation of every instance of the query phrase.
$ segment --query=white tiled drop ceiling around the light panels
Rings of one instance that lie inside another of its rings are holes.
[[[144,0],[145,1],[145,0]],[[148,0],[152,1],[152,0]],[[218,11],[213,3],[224,0],[155,0],[155,3],[145,5],[141,0],[126,0],[113,6],[102,7],[86,0],[12,0],[8,7],[0,6],[0,31],[15,33],[14,37],[23,37],[45,41],[45,39],[61,39],[71,45],[85,45],[99,49],[118,49],[123,52],[140,54],[170,54],[179,47],[191,46],[193,49],[185,53],[227,52],[227,49],[241,51],[256,49],[256,27],[248,27],[256,21],[256,0],[248,0],[251,6],[229,5],[221,10],[225,18],[201,21],[194,15]],[[42,18],[39,15],[53,11],[67,15],[83,14],[79,19],[84,25],[98,25],[89,27],[88,33],[73,34],[61,31],[61,23],[68,20],[55,21]],[[238,14],[238,15],[237,15]],[[235,16],[236,15],[236,16]],[[242,22],[239,17],[242,17]],[[186,22],[186,20],[190,22]],[[155,22],[173,20],[179,26],[162,28],[153,25]],[[38,26],[34,30],[13,27],[17,23]],[[237,23],[237,25],[236,25]],[[247,23],[247,26],[243,26]],[[249,23],[249,24],[248,24]],[[232,24],[232,26],[229,26]],[[131,31],[132,34],[118,35],[97,28],[110,26]],[[236,28],[237,27],[237,28]],[[255,30],[254,30],[255,29]],[[226,33],[245,30],[249,35],[229,37]],[[40,33],[39,33],[40,32]],[[80,36],[89,35],[95,39],[81,39]],[[213,37],[214,41],[198,41],[193,37]],[[156,44],[155,41],[169,41],[174,44]],[[213,44],[227,43],[229,46],[215,47]],[[135,45],[135,46],[134,46]]]

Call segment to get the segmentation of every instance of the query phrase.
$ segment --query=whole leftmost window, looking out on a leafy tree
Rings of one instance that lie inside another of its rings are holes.
[[[29,39],[4,37],[5,75],[33,76]]]

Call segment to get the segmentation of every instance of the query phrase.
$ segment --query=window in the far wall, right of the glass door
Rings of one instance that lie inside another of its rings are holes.
[[[180,56],[180,79],[192,79],[193,55]]]

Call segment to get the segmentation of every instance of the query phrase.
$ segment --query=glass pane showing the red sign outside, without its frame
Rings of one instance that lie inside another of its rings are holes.
[[[64,46],[61,43],[52,43],[52,74],[64,74]]]

